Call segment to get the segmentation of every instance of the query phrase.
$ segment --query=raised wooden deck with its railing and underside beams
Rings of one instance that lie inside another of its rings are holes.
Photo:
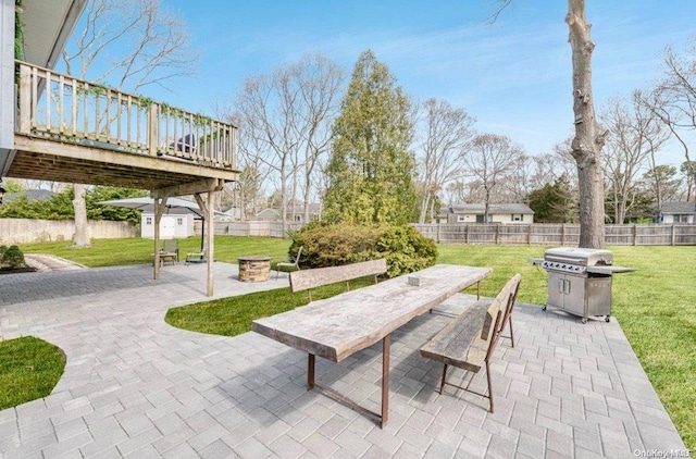
[[[0,176],[157,196],[219,190],[238,179],[235,126],[27,63],[16,67],[15,151]]]

